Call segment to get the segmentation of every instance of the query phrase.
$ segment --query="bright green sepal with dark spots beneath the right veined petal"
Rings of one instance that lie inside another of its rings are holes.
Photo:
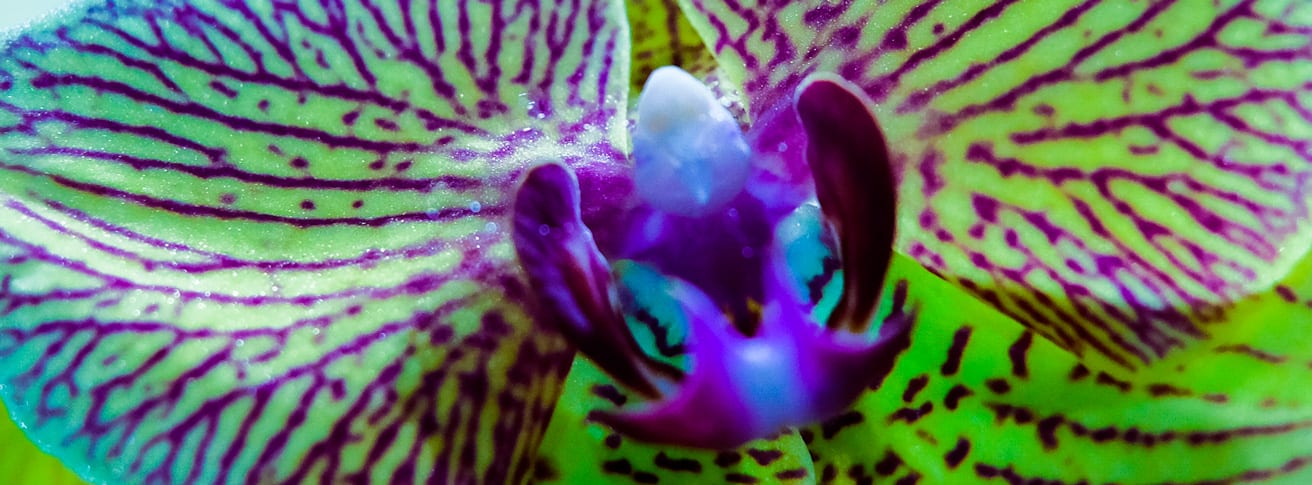
[[[821,481],[1287,482],[1312,480],[1312,263],[1236,311],[1267,332],[1218,336],[1141,381],[1065,350],[895,260],[921,315],[878,392],[803,430]],[[1291,338],[1294,337],[1294,338]],[[1191,387],[1174,383],[1189,381]]]

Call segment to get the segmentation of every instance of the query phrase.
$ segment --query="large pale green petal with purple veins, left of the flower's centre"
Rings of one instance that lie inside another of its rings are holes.
[[[0,50],[0,397],[97,482],[521,481],[509,189],[626,195],[622,12],[114,1]],[[505,62],[514,59],[513,63]]]

